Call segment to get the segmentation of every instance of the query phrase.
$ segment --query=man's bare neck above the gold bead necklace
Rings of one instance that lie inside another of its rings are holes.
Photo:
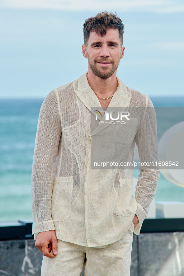
[[[91,68],[88,68],[87,80],[91,89],[95,91],[97,94],[99,93],[100,95],[113,95],[118,87],[116,71],[111,77],[103,79],[101,77],[97,77],[92,72]]]

